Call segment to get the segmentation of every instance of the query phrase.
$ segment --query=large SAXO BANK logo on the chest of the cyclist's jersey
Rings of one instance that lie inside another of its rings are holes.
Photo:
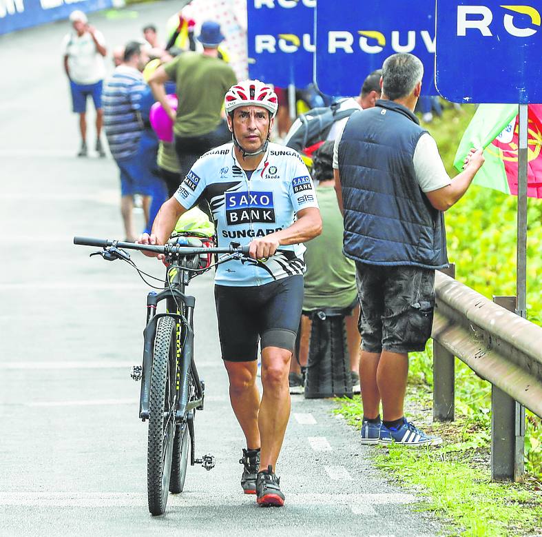
[[[226,192],[228,225],[275,221],[273,192]]]

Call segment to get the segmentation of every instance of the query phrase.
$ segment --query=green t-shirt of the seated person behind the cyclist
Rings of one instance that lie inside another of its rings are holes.
[[[344,225],[333,187],[316,189],[322,234],[305,244],[303,310],[347,307],[355,301],[355,264],[342,253]]]

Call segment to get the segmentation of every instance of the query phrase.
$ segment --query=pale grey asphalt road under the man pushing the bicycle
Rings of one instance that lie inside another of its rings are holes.
[[[144,4],[91,22],[111,48],[176,9]],[[149,287],[127,265],[89,259],[92,249],[72,244],[78,234],[123,232],[114,162],[75,156],[60,56],[66,31],[60,22],[0,37],[0,534],[437,534],[441,527],[415,510],[415,495],[389,483],[358,433],[331,415],[332,401],[293,396],[278,465],[286,507],[261,509],[242,494],[242,434],[229,406],[210,275],[190,291],[207,386],[198,455],[216,456],[216,468],[189,467],[185,492],[169,497],[165,516],[149,515],[147,425],[129,378],[141,360]],[[135,259],[162,276],[156,261]]]

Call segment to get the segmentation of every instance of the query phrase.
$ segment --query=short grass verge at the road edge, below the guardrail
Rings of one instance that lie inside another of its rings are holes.
[[[337,399],[333,412],[358,429],[359,396]],[[423,385],[408,390],[409,419],[443,437],[441,447],[373,447],[375,465],[390,481],[414,489],[417,509],[442,518],[450,536],[486,537],[542,533],[542,485],[533,476],[523,483],[492,483],[489,434],[468,416],[454,423],[430,423],[431,394]]]

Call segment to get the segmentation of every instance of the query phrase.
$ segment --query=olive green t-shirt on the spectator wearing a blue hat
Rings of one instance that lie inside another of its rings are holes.
[[[224,96],[237,82],[233,69],[218,58],[199,52],[184,52],[165,65],[176,82],[177,136],[202,136],[218,127]]]

